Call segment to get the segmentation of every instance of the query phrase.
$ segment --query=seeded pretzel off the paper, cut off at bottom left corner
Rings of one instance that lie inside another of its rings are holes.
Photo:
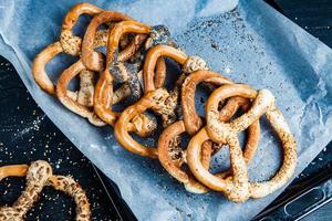
[[[27,187],[12,207],[0,207],[0,220],[23,220],[27,212],[39,199],[45,186],[63,191],[74,198],[76,203],[76,220],[90,221],[91,211],[84,190],[70,177],[53,176],[52,167],[43,160],[34,161],[29,166],[14,165],[0,168],[1,179],[6,177],[25,177]]]

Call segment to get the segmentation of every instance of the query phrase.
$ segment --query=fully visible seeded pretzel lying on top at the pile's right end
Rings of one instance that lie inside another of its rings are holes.
[[[242,116],[230,123],[219,120],[219,102],[241,96],[253,99],[251,108]],[[282,114],[274,106],[274,97],[268,90],[256,92],[245,85],[225,85],[216,90],[207,102],[207,126],[195,135],[187,148],[188,166],[195,177],[216,191],[221,191],[232,201],[245,201],[249,197],[264,197],[283,186],[293,175],[297,162],[297,145]],[[237,138],[237,134],[263,114],[270,120],[271,126],[281,139],[284,150],[283,162],[279,171],[269,181],[250,183],[248,181],[248,169],[246,159]],[[230,151],[231,179],[224,179],[211,175],[200,162],[199,152],[204,141],[211,139],[215,143],[228,144]]]

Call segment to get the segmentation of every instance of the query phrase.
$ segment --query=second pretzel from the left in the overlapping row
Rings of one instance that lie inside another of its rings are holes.
[[[129,19],[126,14],[120,13],[120,12],[115,12],[115,11],[106,11],[103,12],[96,17],[94,17],[93,21],[100,21],[98,18],[101,18],[100,15],[107,15],[107,21],[108,22],[117,22],[117,21],[122,21],[122,20],[127,20]],[[95,20],[95,18],[97,18],[97,20]],[[104,18],[104,17],[102,17]],[[87,118],[89,122],[95,126],[104,126],[105,123],[100,119],[93,112],[93,109],[91,109],[90,107],[93,107],[93,96],[94,96],[94,72],[90,71],[89,67],[85,67],[85,65],[83,64],[83,49],[89,48],[90,49],[90,43],[92,44],[92,48],[97,48],[97,46],[105,46],[106,42],[107,42],[107,36],[108,36],[108,32],[106,30],[100,30],[95,32],[95,29],[97,27],[98,23],[94,22],[92,23],[93,25],[89,25],[87,30],[89,33],[86,33],[87,35],[92,35],[92,39],[86,43],[86,39],[85,41],[83,40],[83,45],[82,45],[82,59],[79,60],[76,63],[72,64],[69,69],[66,69],[65,71],[63,71],[63,73],[61,74],[59,82],[56,84],[56,95],[60,99],[60,102],[68,107],[69,109],[71,109],[72,112],[74,112],[75,114]],[[92,29],[91,27],[95,28]],[[114,24],[113,24],[114,27]],[[112,29],[112,28],[110,28]],[[85,34],[85,35],[86,35]],[[133,41],[135,42],[135,41]],[[85,43],[85,46],[84,46]],[[124,51],[133,51],[136,50],[136,46],[131,44],[127,45],[125,48]],[[85,50],[86,51],[86,50]],[[94,52],[97,53],[97,52]],[[122,52],[123,53],[123,52]],[[121,55],[123,57],[126,57],[124,55]],[[102,60],[104,60],[102,57]],[[104,69],[104,64],[102,63],[97,63],[96,66],[94,66],[94,69],[96,71],[102,71]],[[71,82],[72,78],[74,78],[77,74],[80,74],[81,81],[80,81],[80,91],[77,94],[77,101],[74,99],[69,91],[68,91],[68,85]],[[116,101],[122,101],[124,99],[126,96],[128,96],[129,93],[127,93],[127,91],[125,91],[124,88],[121,88],[118,92],[116,92]]]

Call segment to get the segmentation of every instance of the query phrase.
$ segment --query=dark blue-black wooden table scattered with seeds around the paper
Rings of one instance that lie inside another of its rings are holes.
[[[331,0],[278,0],[272,3],[332,48]],[[92,164],[38,107],[12,65],[3,57],[0,57],[0,166],[45,159],[52,162],[55,172],[72,175],[83,186],[91,200],[94,220],[118,219]],[[326,168],[331,161],[332,148],[328,147],[295,182]],[[23,186],[22,179],[1,181],[0,204],[13,202]],[[71,198],[48,189],[29,212],[28,220],[70,220],[75,213],[74,208]],[[305,220],[332,220],[332,203]]]

